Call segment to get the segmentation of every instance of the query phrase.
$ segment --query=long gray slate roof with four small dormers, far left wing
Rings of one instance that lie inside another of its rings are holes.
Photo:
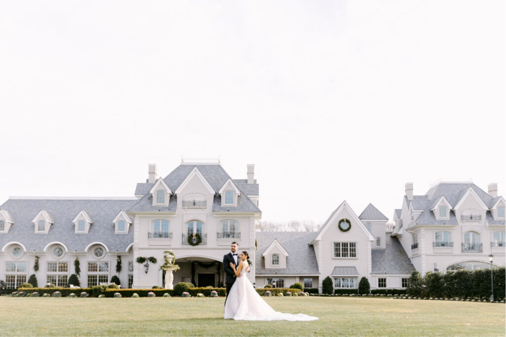
[[[8,233],[0,234],[0,247],[18,241],[28,252],[40,252],[54,241],[69,251],[84,251],[92,242],[104,243],[109,251],[124,252],[134,242],[134,226],[126,234],[115,234],[112,220],[120,210],[128,210],[135,200],[23,200],[9,199],[0,206],[10,212],[14,224]],[[31,222],[40,210],[47,211],[54,220],[47,234],[35,234]],[[75,234],[72,220],[83,210],[93,218],[88,234]],[[134,219],[131,218],[133,222]]]

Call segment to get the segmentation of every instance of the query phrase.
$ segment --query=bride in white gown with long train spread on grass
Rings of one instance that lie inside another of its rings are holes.
[[[232,285],[230,294],[228,294],[225,303],[225,319],[233,318],[235,320],[248,321],[312,321],[318,317],[312,317],[304,314],[285,314],[272,309],[257,293],[251,282],[244,276],[244,270],[247,266],[248,253],[242,252],[239,255],[241,261],[235,268],[235,264],[230,263],[237,277]]]

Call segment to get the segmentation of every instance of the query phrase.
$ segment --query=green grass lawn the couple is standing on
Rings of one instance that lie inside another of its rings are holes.
[[[504,304],[392,298],[264,298],[311,322],[223,319],[224,298],[0,297],[0,335],[504,336]]]

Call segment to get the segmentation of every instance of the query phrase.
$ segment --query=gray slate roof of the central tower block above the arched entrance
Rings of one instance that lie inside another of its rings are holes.
[[[183,183],[186,177],[191,173],[193,168],[196,167],[209,185],[218,194],[218,191],[223,187],[228,179],[232,179],[223,167],[219,164],[216,165],[179,165],[169,173],[163,182],[171,189],[174,193],[178,187]],[[235,183],[236,180],[232,181]],[[253,203],[247,196],[255,195],[249,192],[257,192],[258,195],[258,184],[247,184],[246,180],[238,179],[239,183],[236,184],[241,194],[237,197],[237,206],[235,207],[222,207],[221,196],[215,196],[213,202],[213,212],[260,212],[260,209]],[[164,212],[175,212],[177,208],[177,196],[171,196],[168,206],[153,206],[152,196],[149,194],[149,190],[153,187],[153,183],[138,183],[135,189],[135,194],[144,195],[137,203],[135,203],[129,211],[136,212],[149,212],[149,211],[164,211]],[[248,192],[242,190],[241,187],[248,188]]]

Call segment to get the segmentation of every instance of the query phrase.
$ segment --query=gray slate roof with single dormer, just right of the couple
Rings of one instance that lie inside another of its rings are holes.
[[[316,237],[316,232],[256,232],[257,236],[257,263],[255,273],[257,275],[318,275],[318,262],[313,246],[309,243]],[[283,246],[288,253],[285,269],[266,269],[265,258],[262,257],[265,250],[272,244],[274,239]]]

